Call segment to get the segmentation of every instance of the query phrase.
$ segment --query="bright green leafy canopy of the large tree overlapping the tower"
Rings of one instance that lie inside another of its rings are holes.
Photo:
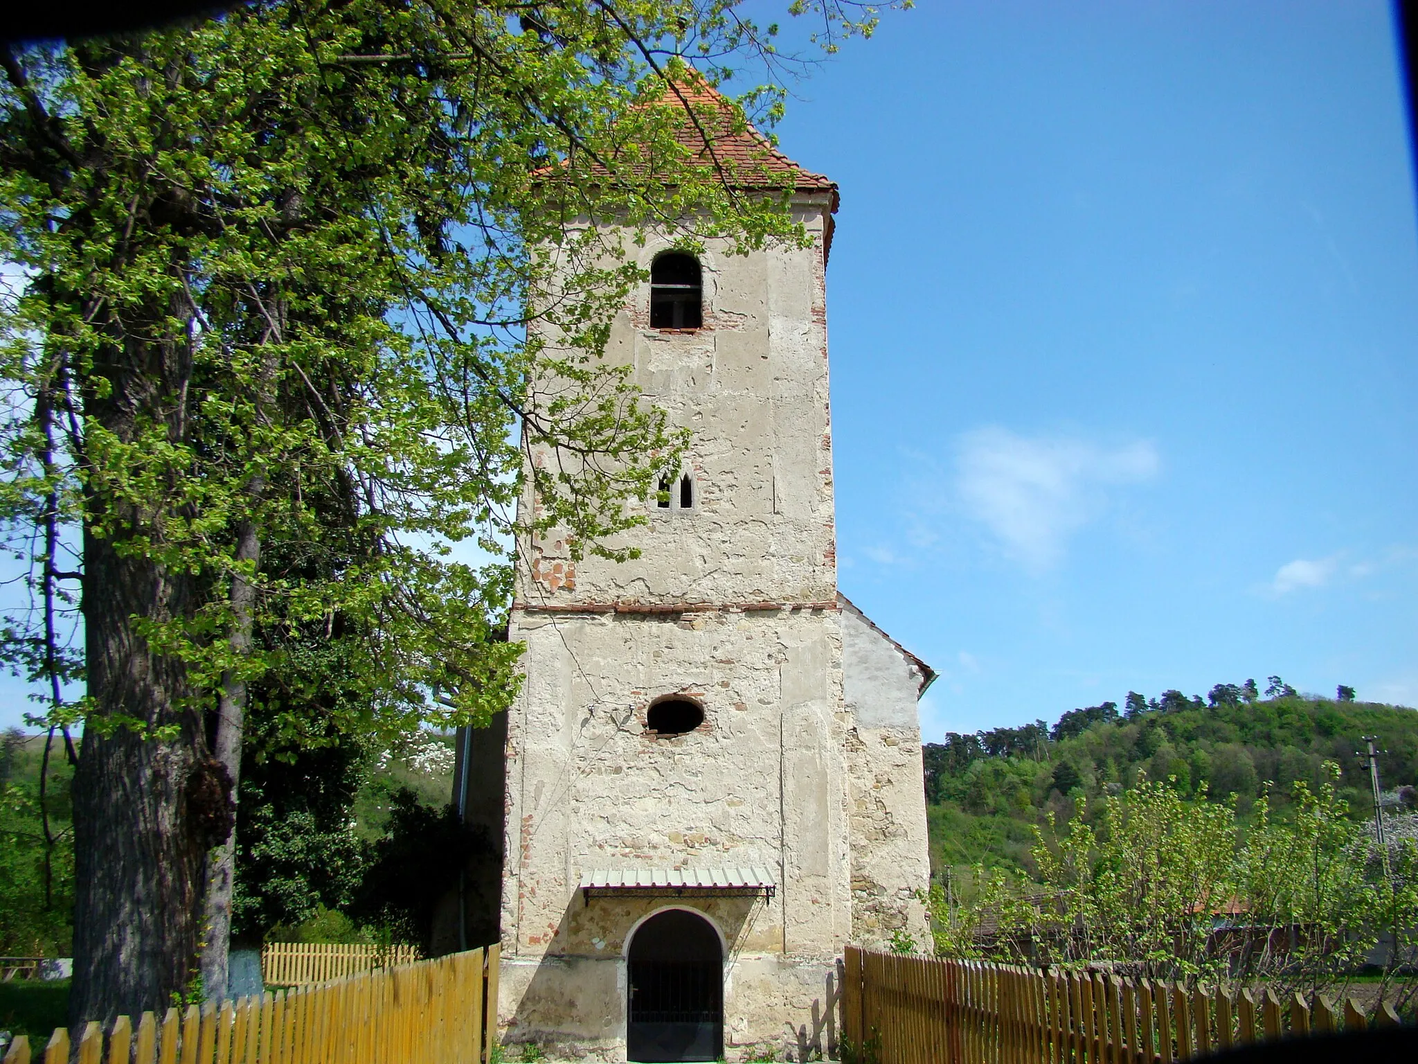
[[[810,10],[832,41],[873,24],[837,0]],[[574,556],[631,556],[607,543],[685,445],[601,358],[644,279],[625,247],[649,228],[803,240],[787,189],[744,194],[685,140],[726,113],[743,129],[743,108],[668,81],[699,78],[689,58],[712,81],[735,54],[767,57],[774,33],[725,0],[535,17],[291,0],[17,54],[0,258],[34,279],[0,319],[0,516],[20,542],[57,522],[182,577],[132,619],[182,663],[179,712],[282,670],[284,647],[339,619],[379,726],[484,719],[516,689],[516,650],[488,638],[508,545],[560,526]],[[761,118],[778,95],[744,102]],[[533,468],[519,518],[523,447],[564,460]],[[259,566],[237,560],[242,528]],[[501,565],[452,560],[469,538]],[[268,633],[254,653],[228,638],[237,579]],[[16,619],[11,636],[11,660],[55,672],[54,633]],[[111,722],[170,733],[92,694]]]

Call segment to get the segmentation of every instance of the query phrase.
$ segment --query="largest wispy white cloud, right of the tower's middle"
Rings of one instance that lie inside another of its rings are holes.
[[[1151,443],[1107,448],[990,427],[960,437],[956,491],[966,512],[1031,569],[1058,562],[1073,532],[1106,505],[1106,488],[1157,475]]]

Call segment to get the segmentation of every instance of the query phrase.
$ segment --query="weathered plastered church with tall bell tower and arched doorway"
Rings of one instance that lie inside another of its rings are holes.
[[[635,250],[651,281],[607,358],[692,443],[644,504],[641,558],[522,546],[508,637],[526,684],[478,739],[505,742],[503,1037],[550,1055],[831,1053],[842,946],[929,941],[933,672],[837,590],[837,187],[753,131],[719,148],[793,187],[811,247]],[[465,749],[455,787],[484,786]]]

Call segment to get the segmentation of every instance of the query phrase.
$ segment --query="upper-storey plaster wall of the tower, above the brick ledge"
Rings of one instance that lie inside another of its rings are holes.
[[[617,315],[605,358],[631,366],[645,401],[691,430],[695,511],[664,511],[649,499],[638,505],[649,526],[610,541],[641,548],[642,558],[625,563],[587,558],[573,565],[557,533],[527,543],[532,572],[519,575],[520,602],[835,597],[825,217],[825,200],[798,204],[797,218],[814,240],[805,248],[744,257],[730,255],[725,241],[708,241],[702,329],[651,329],[648,285]],[[634,253],[648,268],[674,245],[662,234]]]

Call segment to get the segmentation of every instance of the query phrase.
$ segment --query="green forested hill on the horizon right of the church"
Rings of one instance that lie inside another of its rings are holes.
[[[1035,721],[926,743],[926,800],[932,868],[983,863],[1029,871],[1034,826],[1052,810],[1072,816],[1099,797],[1149,779],[1176,777],[1190,796],[1211,802],[1236,794],[1248,813],[1269,783],[1283,806],[1296,782],[1316,786],[1326,760],[1339,762],[1340,786],[1356,816],[1373,814],[1368,770],[1356,750],[1377,736],[1385,804],[1412,806],[1418,785],[1418,711],[1302,695],[1279,677],[1262,692],[1255,681],[1217,684],[1205,699],[1180,691],[1065,712],[1052,726]]]

